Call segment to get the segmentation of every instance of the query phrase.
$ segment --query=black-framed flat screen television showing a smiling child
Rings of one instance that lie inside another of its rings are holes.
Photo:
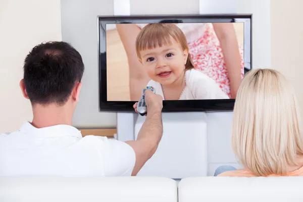
[[[99,111],[134,112],[145,86],[163,112],[232,111],[251,70],[251,15],[98,16]]]

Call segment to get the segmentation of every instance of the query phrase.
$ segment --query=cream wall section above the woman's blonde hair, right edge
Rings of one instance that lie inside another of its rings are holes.
[[[303,2],[271,1],[271,63],[294,86],[303,116]]]

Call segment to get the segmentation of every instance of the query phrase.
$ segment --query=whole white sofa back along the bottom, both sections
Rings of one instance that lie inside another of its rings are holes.
[[[0,177],[1,202],[303,201],[303,177]]]

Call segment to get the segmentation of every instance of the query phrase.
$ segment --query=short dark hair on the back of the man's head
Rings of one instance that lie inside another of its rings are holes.
[[[69,43],[35,46],[24,61],[24,84],[31,103],[64,105],[83,72],[82,57]]]

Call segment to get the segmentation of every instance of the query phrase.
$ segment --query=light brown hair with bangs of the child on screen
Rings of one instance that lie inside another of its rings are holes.
[[[155,48],[162,45],[170,45],[171,37],[175,39],[182,48],[182,51],[188,50],[187,40],[182,30],[172,23],[151,23],[142,28],[136,38],[136,52],[138,58],[141,58],[140,51]],[[188,54],[185,69],[192,69],[193,64]]]

